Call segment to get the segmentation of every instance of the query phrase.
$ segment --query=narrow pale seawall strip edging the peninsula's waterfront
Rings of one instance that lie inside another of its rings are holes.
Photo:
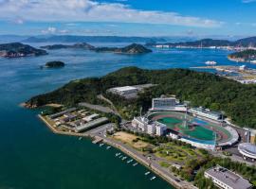
[[[174,180],[167,173],[165,173],[163,170],[159,170],[154,164],[148,162],[147,160],[144,160],[142,157],[140,157],[135,152],[133,152],[131,149],[129,149],[128,146],[124,146],[124,144],[121,144],[121,142],[111,140],[110,138],[103,138],[103,137],[100,137],[100,136],[97,136],[97,135],[94,136],[94,135],[90,135],[90,134],[86,134],[86,133],[74,133],[74,132],[60,131],[60,130],[55,129],[53,126],[51,126],[47,122],[47,120],[44,116],[38,114],[38,117],[40,118],[41,121],[43,121],[46,124],[47,128],[50,129],[55,134],[68,135],[68,136],[79,136],[79,137],[88,137],[90,139],[93,139],[93,138],[97,137],[98,139],[101,139],[103,143],[119,149],[124,154],[130,156],[131,158],[135,159],[141,165],[143,165],[143,166],[147,167],[148,169],[150,169],[151,171],[153,171],[155,173],[155,175],[157,175],[161,179],[167,181],[169,184],[174,186],[174,188],[177,188],[177,189],[184,189],[184,188],[196,189],[197,188],[196,186],[193,186],[192,184],[190,184],[190,185],[181,184],[180,182],[182,182],[182,181],[178,182],[178,181]]]

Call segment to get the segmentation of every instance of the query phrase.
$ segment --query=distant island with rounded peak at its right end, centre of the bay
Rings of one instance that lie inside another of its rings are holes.
[[[118,48],[118,47],[98,47],[94,49],[96,52],[113,52],[120,54],[144,54],[150,53],[152,50],[146,48],[145,46],[137,43],[132,43],[128,46]]]

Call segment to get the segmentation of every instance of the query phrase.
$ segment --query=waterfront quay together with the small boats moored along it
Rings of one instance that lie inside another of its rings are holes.
[[[56,134],[62,134],[62,135],[71,135],[71,136],[78,136],[78,137],[89,137],[92,139],[92,143],[94,145],[98,145],[105,149],[110,149],[111,146],[118,148],[121,152],[126,154],[118,153],[115,154],[115,156],[120,159],[122,162],[131,164],[132,166],[137,166],[137,163],[141,163],[144,166],[146,166],[148,169],[153,171],[155,175],[158,175],[163,180],[166,180],[171,185],[173,185],[175,188],[187,188],[187,189],[195,189],[196,187],[192,185],[192,183],[189,183],[185,180],[178,180],[173,174],[171,174],[168,170],[165,170],[163,167],[161,167],[157,162],[154,160],[147,159],[143,154],[139,153],[136,149],[132,148],[131,146],[127,146],[117,140],[113,140],[112,138],[106,137],[103,134],[103,129],[100,127],[96,129],[97,132],[94,132],[94,129],[82,133],[76,133],[76,132],[70,132],[70,131],[61,131],[56,129],[47,119],[45,116],[38,115],[39,118],[46,124],[46,126],[54,133]],[[101,134],[100,134],[101,133]],[[104,146],[104,144],[108,146]],[[104,147],[103,147],[104,146]],[[130,156],[132,159],[128,159],[128,156]],[[137,163],[133,163],[134,161],[137,161]],[[155,180],[156,177],[153,176],[150,178],[150,180]]]

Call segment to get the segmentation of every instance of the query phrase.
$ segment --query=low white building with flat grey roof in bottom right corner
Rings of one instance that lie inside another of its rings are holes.
[[[215,166],[205,171],[205,177],[212,180],[213,183],[224,189],[250,189],[252,184],[241,176],[229,171],[222,166]]]

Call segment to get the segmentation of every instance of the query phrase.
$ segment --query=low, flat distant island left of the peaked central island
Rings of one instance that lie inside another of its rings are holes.
[[[48,49],[48,50],[57,50],[62,48],[82,48],[87,50],[93,50],[95,47],[89,43],[75,43],[75,44],[53,44],[41,46],[40,48]]]

